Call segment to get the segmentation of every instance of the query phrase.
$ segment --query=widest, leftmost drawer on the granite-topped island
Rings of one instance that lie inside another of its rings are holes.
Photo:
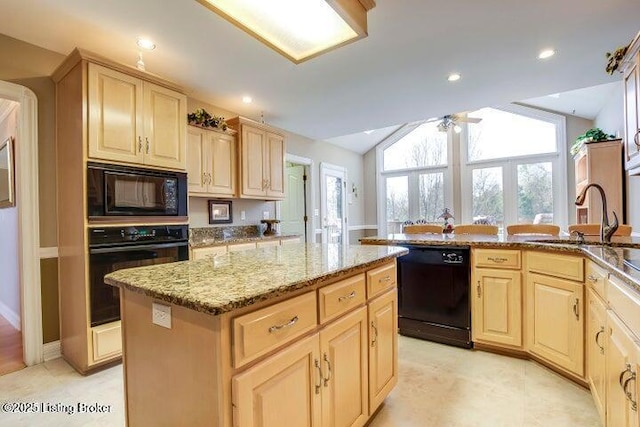
[[[233,366],[238,368],[312,330],[316,293],[282,301],[233,319]]]

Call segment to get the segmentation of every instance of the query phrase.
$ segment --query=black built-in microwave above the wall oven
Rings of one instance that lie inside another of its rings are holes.
[[[187,174],[88,163],[89,219],[131,216],[187,216]]]

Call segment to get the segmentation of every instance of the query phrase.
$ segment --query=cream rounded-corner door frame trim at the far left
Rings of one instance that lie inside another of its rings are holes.
[[[0,81],[0,98],[18,102],[16,206],[20,276],[22,357],[27,366],[43,361],[40,294],[40,200],[38,192],[38,101],[31,89]]]

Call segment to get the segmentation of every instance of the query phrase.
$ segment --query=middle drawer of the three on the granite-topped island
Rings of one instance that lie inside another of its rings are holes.
[[[364,303],[367,299],[364,283],[364,273],[362,273],[320,288],[318,290],[320,323],[338,317]]]

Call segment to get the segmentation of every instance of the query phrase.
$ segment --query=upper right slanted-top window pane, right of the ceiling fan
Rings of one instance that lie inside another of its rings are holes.
[[[469,162],[556,153],[556,125],[522,114],[483,108],[469,113],[481,118],[468,125]]]

